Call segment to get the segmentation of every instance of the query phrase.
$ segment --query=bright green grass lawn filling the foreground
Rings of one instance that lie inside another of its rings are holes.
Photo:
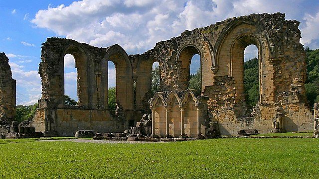
[[[319,176],[319,140],[315,138],[232,138],[151,144],[23,140],[0,144],[0,179],[318,179]]]

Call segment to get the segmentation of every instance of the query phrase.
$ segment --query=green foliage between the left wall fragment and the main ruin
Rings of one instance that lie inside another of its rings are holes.
[[[23,106],[23,105],[16,106],[15,120],[20,123],[22,121],[28,120],[29,118],[32,118],[38,106],[39,106],[38,103],[35,103],[33,105],[28,105],[28,106]]]

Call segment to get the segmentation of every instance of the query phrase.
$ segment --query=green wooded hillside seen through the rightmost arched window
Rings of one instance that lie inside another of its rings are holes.
[[[244,92],[248,108],[252,108],[259,101],[259,69],[258,58],[244,63]]]

